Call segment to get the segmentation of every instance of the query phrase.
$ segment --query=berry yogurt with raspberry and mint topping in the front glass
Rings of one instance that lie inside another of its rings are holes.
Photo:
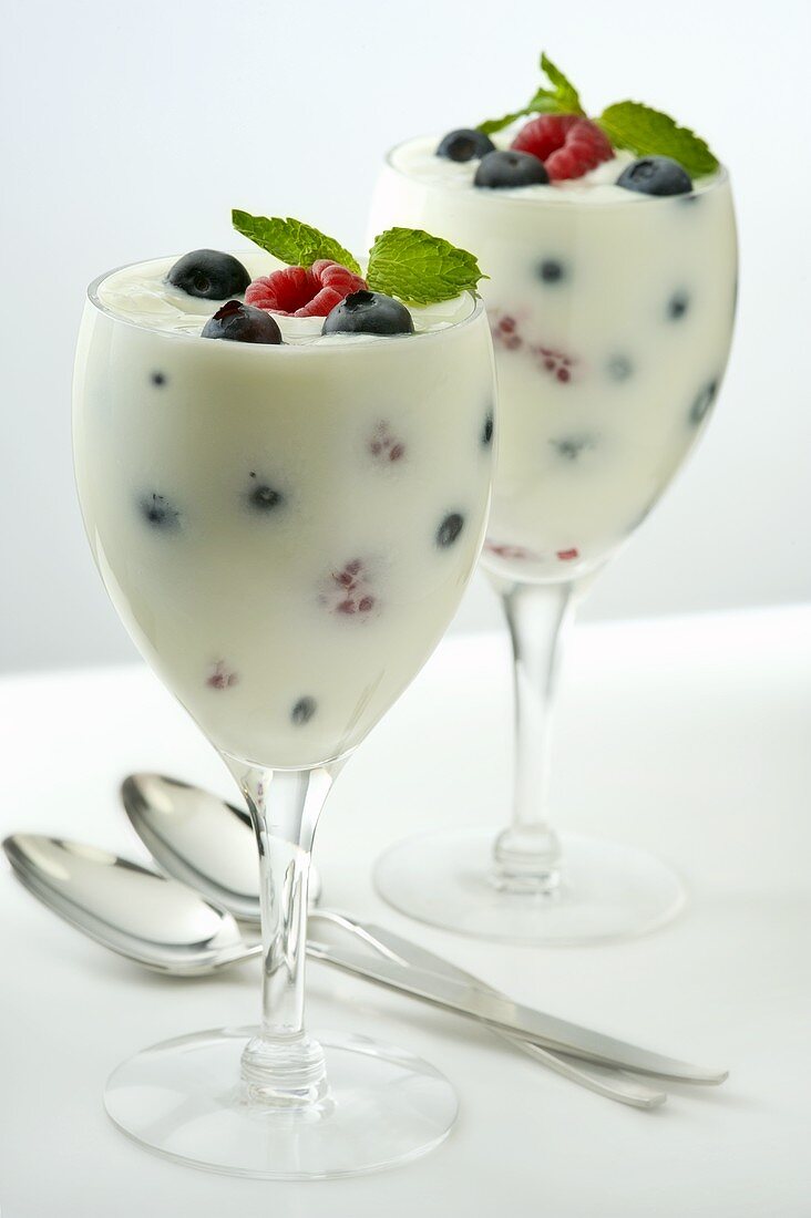
[[[266,225],[266,248],[306,229],[235,217]],[[351,266],[194,251],[102,276],[85,306],[74,447],[96,563],[205,734],[254,764],[351,750],[431,654],[483,540],[494,374],[474,261],[449,255],[443,289],[415,272],[404,300],[423,303],[406,306],[368,290],[415,248],[384,238],[368,283],[340,247]]]

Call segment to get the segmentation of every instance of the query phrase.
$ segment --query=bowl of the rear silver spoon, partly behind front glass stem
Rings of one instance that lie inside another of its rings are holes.
[[[256,839],[246,811],[160,773],[132,773],[121,798],[135,833],[159,868],[240,922],[260,923]],[[321,879],[310,870],[310,905]]]

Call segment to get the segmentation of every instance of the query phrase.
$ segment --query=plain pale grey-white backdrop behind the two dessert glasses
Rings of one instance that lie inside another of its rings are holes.
[[[26,0],[0,43],[0,667],[132,654],[91,569],[70,457],[84,286],[233,245],[229,208],[359,247],[383,151],[513,108],[543,45],[593,110],[628,95],[732,168],[740,317],[712,426],[587,615],[811,596],[802,0]],[[487,626],[479,580],[456,628]]]

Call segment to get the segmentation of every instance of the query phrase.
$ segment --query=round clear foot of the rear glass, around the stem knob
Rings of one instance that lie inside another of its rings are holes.
[[[560,885],[550,894],[496,888],[499,829],[450,829],[409,838],[374,866],[374,887],[409,917],[477,939],[535,945],[607,943],[645,934],[682,910],[684,885],[634,847],[561,834]]]

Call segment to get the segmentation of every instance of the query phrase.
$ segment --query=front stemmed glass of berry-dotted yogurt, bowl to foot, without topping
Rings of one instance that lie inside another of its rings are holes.
[[[139,1052],[107,1111],[217,1172],[402,1162],[448,1134],[455,1093],[406,1051],[307,1033],[307,876],[335,777],[435,647],[479,553],[482,302],[416,335],[251,346],[135,324],[100,298],[105,278],[76,363],[84,523],[124,625],[248,801],[263,944],[260,1026]]]

